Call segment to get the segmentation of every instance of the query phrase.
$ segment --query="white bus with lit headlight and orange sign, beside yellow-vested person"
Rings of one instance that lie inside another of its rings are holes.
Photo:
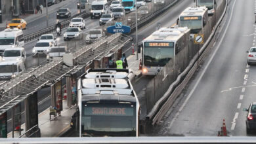
[[[142,41],[142,75],[157,75],[175,55],[188,49],[190,29],[163,27]]]

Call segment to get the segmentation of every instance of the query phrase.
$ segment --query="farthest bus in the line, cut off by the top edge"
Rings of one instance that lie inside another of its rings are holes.
[[[213,15],[216,9],[215,0],[196,0],[196,7],[207,7],[208,14]]]

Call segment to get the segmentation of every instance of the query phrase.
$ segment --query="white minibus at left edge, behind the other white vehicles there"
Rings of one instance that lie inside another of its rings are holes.
[[[0,54],[5,49],[14,47],[24,47],[24,37],[22,29],[8,28],[0,32]]]

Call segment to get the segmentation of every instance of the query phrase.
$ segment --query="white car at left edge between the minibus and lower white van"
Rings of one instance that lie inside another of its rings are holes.
[[[3,61],[22,61],[26,62],[26,51],[22,47],[7,48],[3,52]]]

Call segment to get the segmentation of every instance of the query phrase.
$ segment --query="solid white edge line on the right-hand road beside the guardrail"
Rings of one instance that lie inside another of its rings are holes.
[[[194,87],[192,88],[190,94],[188,94],[188,97],[185,99],[184,103],[181,105],[179,111],[177,112],[177,114],[175,115],[175,117],[173,118],[173,120],[171,120],[171,122],[170,122],[170,124],[169,124],[169,126],[168,126],[168,129],[171,128],[171,126],[173,125],[173,123],[175,122],[175,120],[179,117],[179,114],[181,113],[182,109],[185,107],[186,103],[188,103],[188,100],[190,99],[190,97],[192,96],[192,94],[194,93],[194,91],[196,90],[196,88],[198,87],[199,82],[201,81],[203,75],[205,74],[205,71],[207,70],[207,68],[209,67],[211,61],[213,60],[213,58],[214,58],[214,56],[215,56],[215,54],[216,54],[217,51],[219,50],[219,48],[220,48],[220,46],[221,46],[221,43],[223,43],[223,39],[224,39],[224,37],[225,37],[225,35],[226,35],[226,31],[228,31],[228,27],[230,26],[230,22],[231,22],[231,20],[232,20],[232,16],[233,16],[233,11],[234,11],[234,6],[235,6],[235,4],[236,4],[236,0],[234,0],[234,4],[233,4],[233,6],[232,6],[231,15],[230,15],[230,19],[228,20],[228,24],[227,24],[226,27],[225,27],[224,33],[223,33],[223,35],[222,35],[222,37],[221,37],[221,39],[220,39],[220,41],[219,41],[217,47],[215,48],[215,50],[214,50],[214,52],[213,52],[213,55],[211,55],[211,58],[210,58],[209,61],[207,62],[205,68],[204,68],[203,71],[202,71],[202,74],[200,75],[198,81],[196,82],[196,84],[195,84]]]

